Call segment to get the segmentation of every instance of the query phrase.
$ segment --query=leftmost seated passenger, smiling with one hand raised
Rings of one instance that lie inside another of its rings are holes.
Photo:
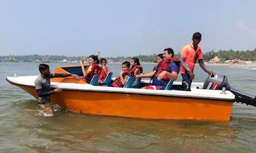
[[[91,82],[91,78],[93,78],[93,75],[100,74],[100,71],[102,71],[102,68],[98,65],[99,60],[98,57],[95,55],[89,56],[89,65],[87,65],[86,69],[83,65],[85,61],[85,57],[81,57],[81,68],[83,72],[83,78],[81,80],[87,82],[88,84]]]

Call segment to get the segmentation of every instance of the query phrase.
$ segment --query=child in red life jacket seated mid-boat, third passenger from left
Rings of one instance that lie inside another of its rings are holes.
[[[112,87],[121,87],[125,86],[128,78],[131,76],[130,63],[129,61],[124,61],[122,63],[122,71],[119,73],[119,78],[116,78],[111,84]]]

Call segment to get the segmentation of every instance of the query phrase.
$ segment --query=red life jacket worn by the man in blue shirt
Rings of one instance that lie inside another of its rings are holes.
[[[168,59],[163,60],[161,65],[160,65],[160,67],[158,67],[158,69],[156,69],[156,75],[155,76],[157,77],[162,71],[169,71],[169,72],[171,72],[169,70],[169,67],[168,67],[168,64],[170,62],[174,62],[179,67],[179,70],[180,70],[180,67],[181,67],[180,60],[178,58],[169,57]],[[179,71],[177,73],[179,73]],[[165,81],[169,81],[170,80],[167,77],[167,75],[164,75],[162,79],[165,80]]]

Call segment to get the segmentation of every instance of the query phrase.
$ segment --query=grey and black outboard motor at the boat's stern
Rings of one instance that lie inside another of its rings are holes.
[[[203,89],[207,90],[221,90],[223,87],[230,90],[230,92],[235,95],[233,102],[242,102],[247,105],[250,104],[252,106],[256,106],[256,96],[231,88],[230,84],[228,84],[228,78],[226,75],[209,75],[202,86]]]

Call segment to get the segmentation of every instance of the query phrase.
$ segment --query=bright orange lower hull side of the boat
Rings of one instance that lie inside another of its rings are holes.
[[[19,86],[38,98],[35,88]],[[143,119],[230,121],[233,102],[202,98],[64,90],[51,103],[77,113]]]

